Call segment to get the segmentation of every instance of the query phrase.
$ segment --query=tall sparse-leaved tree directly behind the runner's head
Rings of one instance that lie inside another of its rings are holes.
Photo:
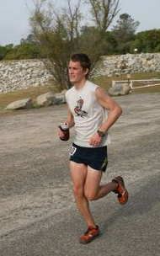
[[[91,9],[93,27],[83,27],[80,12],[82,0],[56,12],[53,3],[37,0],[35,11],[30,17],[32,34],[46,56],[45,66],[51,71],[59,88],[70,88],[67,63],[72,52],[86,52],[93,67],[103,53],[106,29],[118,13],[120,0],[86,0]],[[89,37],[93,33],[92,40]]]

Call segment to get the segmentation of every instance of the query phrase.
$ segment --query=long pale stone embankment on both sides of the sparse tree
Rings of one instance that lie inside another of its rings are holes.
[[[93,75],[160,72],[160,53],[126,54],[121,56],[104,56]],[[51,82],[52,76],[46,70],[43,61],[0,61],[0,93],[45,86]]]

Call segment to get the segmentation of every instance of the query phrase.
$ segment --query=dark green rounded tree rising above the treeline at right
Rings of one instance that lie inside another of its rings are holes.
[[[120,15],[120,18],[112,29],[117,42],[117,53],[125,54],[126,52],[130,52],[132,40],[135,39],[136,29],[139,24],[139,21],[134,21],[127,13]]]

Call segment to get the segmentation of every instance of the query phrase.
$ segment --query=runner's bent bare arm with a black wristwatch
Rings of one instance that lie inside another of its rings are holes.
[[[103,88],[97,88],[96,89],[96,97],[99,101],[99,104],[104,108],[109,110],[109,115],[107,120],[105,120],[104,124],[102,124],[99,127],[99,131],[109,131],[109,128],[115,123],[115,121],[119,118],[119,116],[122,113],[122,109],[120,108],[120,105],[115,102],[114,99],[109,97],[107,93],[105,93]],[[100,142],[103,140],[98,133],[94,133],[90,144],[93,146],[99,146]]]

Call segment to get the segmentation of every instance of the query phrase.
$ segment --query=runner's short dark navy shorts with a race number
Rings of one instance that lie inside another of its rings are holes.
[[[95,170],[105,172],[108,165],[107,146],[80,147],[73,143],[70,151],[70,161],[83,163]]]

